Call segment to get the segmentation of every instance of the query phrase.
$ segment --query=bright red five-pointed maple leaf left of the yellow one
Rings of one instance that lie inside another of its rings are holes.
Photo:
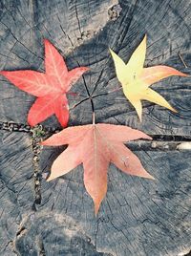
[[[66,127],[69,120],[67,92],[84,72],[86,67],[68,71],[60,53],[47,40],[45,44],[45,73],[31,70],[1,71],[19,89],[37,96],[28,114],[28,122],[34,126],[55,114],[60,124]]]

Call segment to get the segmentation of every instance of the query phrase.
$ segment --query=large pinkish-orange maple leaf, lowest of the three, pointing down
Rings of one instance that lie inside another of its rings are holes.
[[[154,179],[124,144],[133,139],[151,139],[144,133],[123,125],[88,124],[68,127],[42,142],[43,145],[68,144],[53,162],[48,181],[62,176],[83,163],[84,184],[95,203],[97,213],[107,191],[107,169],[110,162],[123,172]]]

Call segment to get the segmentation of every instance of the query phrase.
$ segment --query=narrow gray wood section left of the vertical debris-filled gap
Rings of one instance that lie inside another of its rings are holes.
[[[0,132],[0,255],[14,255],[19,224],[32,212],[32,147],[28,136]]]

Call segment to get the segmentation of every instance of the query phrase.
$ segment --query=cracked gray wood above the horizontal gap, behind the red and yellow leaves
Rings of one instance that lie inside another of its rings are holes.
[[[43,38],[67,56],[70,69],[78,65],[90,66],[92,71],[73,88],[82,96],[73,96],[74,103],[87,97],[86,82],[94,96],[119,86],[108,47],[125,60],[138,46],[143,34],[148,35],[146,66],[167,64],[190,73],[190,1],[138,0],[120,3],[122,11],[116,21],[108,21],[107,11],[117,1],[1,1],[1,69],[35,69],[42,71]],[[100,23],[101,20],[101,23]],[[100,29],[102,24],[102,28]],[[88,38],[77,40],[90,31]],[[186,69],[179,53],[187,63]],[[20,92],[1,77],[0,119],[26,122],[34,98]],[[159,106],[145,103],[143,122],[138,122],[135,110],[117,92],[97,96],[96,120],[123,123],[150,134],[190,135],[191,87],[190,78],[173,77],[154,85],[179,113],[173,114]],[[5,93],[6,92],[6,93]],[[186,92],[186,93],[185,93]],[[15,99],[16,98],[16,99]],[[12,111],[14,110],[14,111]],[[71,110],[71,124],[91,122],[90,101]],[[46,122],[57,125],[55,118]]]

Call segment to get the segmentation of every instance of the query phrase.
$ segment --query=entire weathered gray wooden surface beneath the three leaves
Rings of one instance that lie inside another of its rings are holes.
[[[92,121],[90,99],[84,100],[89,93],[97,122],[126,124],[157,140],[171,135],[165,141],[168,147],[158,150],[143,142],[130,144],[156,181],[127,176],[111,165],[107,196],[95,218],[81,166],[55,181],[45,180],[63,148],[40,149],[35,160],[36,135],[29,129],[3,129],[7,121],[27,124],[34,97],[0,77],[2,256],[178,256],[191,249],[191,151],[171,146],[178,136],[191,137],[190,77],[167,78],[152,86],[179,113],[144,102],[142,123],[122,93],[104,95],[119,86],[108,47],[128,60],[144,33],[145,66],[165,64],[190,74],[190,0],[121,0],[115,5],[115,0],[2,0],[0,69],[43,71],[43,38],[66,57],[70,69],[91,67],[73,87],[80,96],[71,96],[70,125]],[[59,128],[55,117],[44,125]]]

